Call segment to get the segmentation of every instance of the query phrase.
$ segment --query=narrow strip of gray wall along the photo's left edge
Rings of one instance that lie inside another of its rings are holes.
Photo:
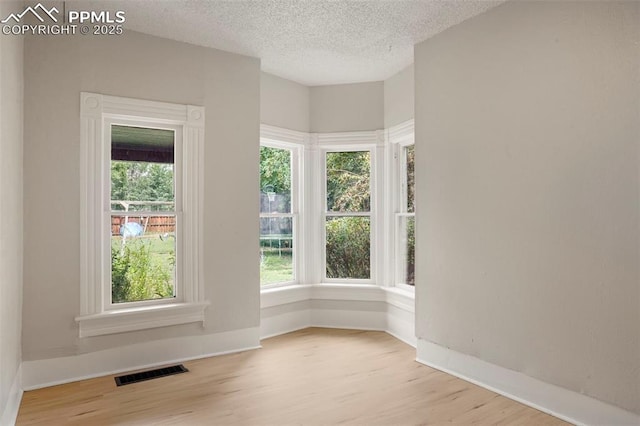
[[[2,2],[0,16],[20,7]],[[22,37],[0,37],[0,423],[21,362],[22,52]]]

